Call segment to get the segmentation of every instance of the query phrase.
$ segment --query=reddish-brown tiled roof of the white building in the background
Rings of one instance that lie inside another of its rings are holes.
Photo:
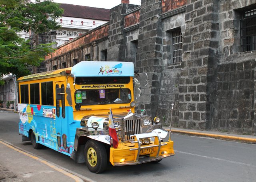
[[[62,16],[109,21],[109,9],[61,3],[60,8],[64,9]]]

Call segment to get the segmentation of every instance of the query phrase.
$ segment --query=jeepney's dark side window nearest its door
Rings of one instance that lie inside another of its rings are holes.
[[[52,82],[41,83],[42,105],[53,106],[53,85]]]

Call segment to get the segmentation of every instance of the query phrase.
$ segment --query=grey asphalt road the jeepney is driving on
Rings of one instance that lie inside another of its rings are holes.
[[[18,135],[18,114],[0,110],[0,138],[97,182],[254,182],[256,145],[172,134],[175,156],[158,164],[109,166],[102,174],[45,147],[33,149]],[[50,176],[49,176],[50,177]]]

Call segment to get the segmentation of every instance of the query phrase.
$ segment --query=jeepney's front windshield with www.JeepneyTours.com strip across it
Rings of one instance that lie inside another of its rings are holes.
[[[76,77],[75,83],[81,86],[75,92],[75,102],[81,106],[128,104],[132,99],[131,90],[124,88],[124,84],[130,81],[128,76]]]

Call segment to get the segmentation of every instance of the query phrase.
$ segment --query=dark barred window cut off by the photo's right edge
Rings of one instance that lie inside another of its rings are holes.
[[[256,50],[256,9],[240,16],[241,52]]]

